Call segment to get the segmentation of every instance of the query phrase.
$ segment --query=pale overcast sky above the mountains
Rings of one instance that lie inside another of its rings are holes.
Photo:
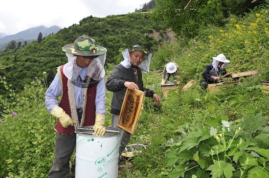
[[[0,32],[14,35],[28,28],[79,24],[90,15],[128,14],[150,0],[1,0]]]

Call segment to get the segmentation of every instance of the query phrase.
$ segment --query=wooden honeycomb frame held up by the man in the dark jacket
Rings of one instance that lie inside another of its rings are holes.
[[[117,126],[134,135],[146,92],[126,90]]]

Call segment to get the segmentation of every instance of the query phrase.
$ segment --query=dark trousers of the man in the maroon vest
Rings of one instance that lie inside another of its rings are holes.
[[[79,121],[82,111],[77,110]],[[55,142],[55,156],[52,167],[47,175],[48,178],[68,178],[70,172],[69,161],[76,146],[76,134],[57,134]],[[75,163],[71,167],[71,178],[75,178]]]

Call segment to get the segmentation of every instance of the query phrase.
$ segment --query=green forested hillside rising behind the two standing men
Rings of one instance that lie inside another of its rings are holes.
[[[5,76],[17,91],[35,78],[44,79],[43,72],[47,73],[50,82],[56,74],[56,67],[67,62],[62,46],[73,43],[83,34],[105,46],[108,49],[106,62],[114,63],[120,48],[139,44],[155,51],[158,40],[152,35],[154,31],[165,35],[165,27],[150,20],[148,13],[112,15],[106,18],[90,16],[80,20],[79,24],[45,37],[40,43],[33,41],[19,49],[0,52],[0,76]],[[0,92],[6,92],[2,85]]]

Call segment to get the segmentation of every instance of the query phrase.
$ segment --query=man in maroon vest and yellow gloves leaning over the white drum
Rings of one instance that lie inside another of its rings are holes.
[[[107,49],[82,35],[62,50],[68,62],[58,67],[45,94],[48,112],[58,119],[55,156],[48,178],[68,178],[76,128],[94,125],[95,136],[103,136],[106,132],[104,63]],[[59,96],[62,96],[60,102],[57,101]],[[71,178],[75,177],[74,168],[73,163]]]

